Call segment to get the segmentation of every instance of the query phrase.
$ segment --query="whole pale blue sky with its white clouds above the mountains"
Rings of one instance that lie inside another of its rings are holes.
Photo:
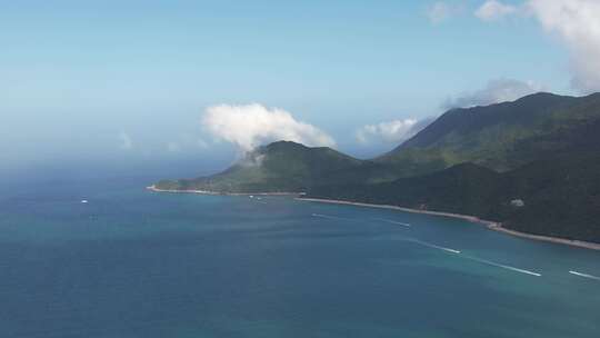
[[[600,90],[597,60],[596,0],[0,0],[0,173],[369,158],[453,107]]]

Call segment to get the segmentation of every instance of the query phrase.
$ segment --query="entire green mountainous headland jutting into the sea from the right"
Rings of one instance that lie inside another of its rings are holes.
[[[162,180],[156,191],[302,193],[306,198],[490,220],[533,239],[600,243],[600,93],[536,93],[451,109],[408,141],[360,160],[289,141],[223,172]],[[500,226],[501,225],[501,226]]]

